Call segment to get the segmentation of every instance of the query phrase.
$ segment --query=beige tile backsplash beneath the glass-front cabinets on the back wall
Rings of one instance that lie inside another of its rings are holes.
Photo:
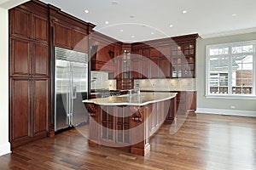
[[[137,79],[134,85],[148,91],[195,91],[195,78]]]

